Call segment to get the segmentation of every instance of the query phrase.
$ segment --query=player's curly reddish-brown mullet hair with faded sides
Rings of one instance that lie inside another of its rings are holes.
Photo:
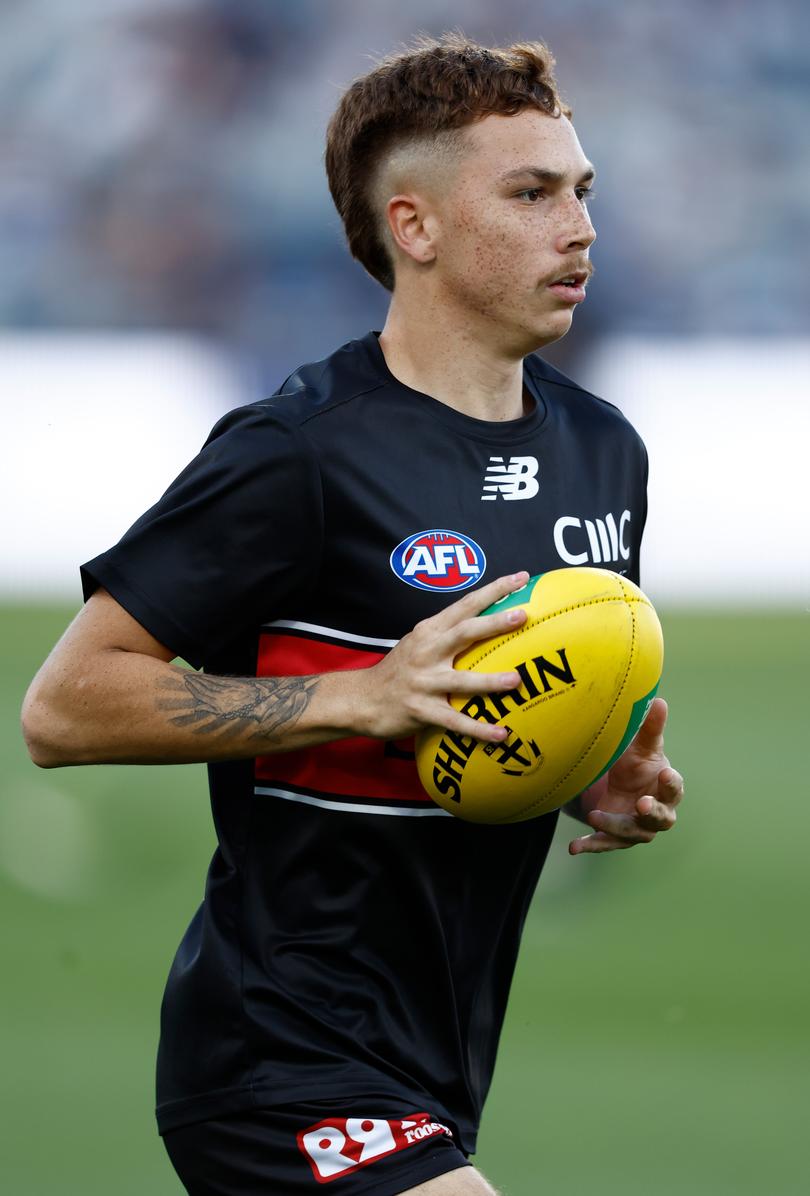
[[[524,108],[571,116],[542,42],[488,49],[457,32],[421,37],[349,86],[327,132],[327,178],[353,257],[386,291],[394,289],[394,262],[372,202],[384,155],[403,142],[428,141]]]

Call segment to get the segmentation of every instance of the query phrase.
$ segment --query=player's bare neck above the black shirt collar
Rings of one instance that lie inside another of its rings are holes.
[[[398,382],[479,420],[517,420],[529,409],[523,358],[495,349],[446,304],[395,294],[379,337]]]

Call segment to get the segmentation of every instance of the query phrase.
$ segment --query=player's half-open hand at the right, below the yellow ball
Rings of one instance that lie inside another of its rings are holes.
[[[666,702],[657,697],[623,756],[565,806],[567,813],[593,829],[568,844],[571,855],[651,843],[659,831],[675,825],[683,777],[664,755],[665,725]]]

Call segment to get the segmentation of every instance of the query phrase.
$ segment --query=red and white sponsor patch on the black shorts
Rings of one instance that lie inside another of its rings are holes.
[[[365,1167],[376,1159],[416,1146],[426,1137],[452,1134],[430,1113],[384,1121],[380,1117],[330,1117],[298,1134],[298,1148],[319,1184]]]

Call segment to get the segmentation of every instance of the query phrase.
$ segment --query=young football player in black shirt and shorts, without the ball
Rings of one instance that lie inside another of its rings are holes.
[[[638,580],[646,512],[638,435],[534,355],[585,298],[595,237],[552,66],[450,36],[352,85],[327,170],[392,292],[385,328],[220,421],[84,566],[26,701],[43,767],[211,764],[219,847],[158,1066],[159,1128],[200,1196],[493,1191],[468,1155],[556,816],[446,816],[408,737],[500,738],[446,695],[519,678],[452,663],[523,616],[476,616],[593,562],[589,519],[613,517],[604,563]],[[573,804],[592,829],[573,854],[675,822],[665,718],[657,701]]]

